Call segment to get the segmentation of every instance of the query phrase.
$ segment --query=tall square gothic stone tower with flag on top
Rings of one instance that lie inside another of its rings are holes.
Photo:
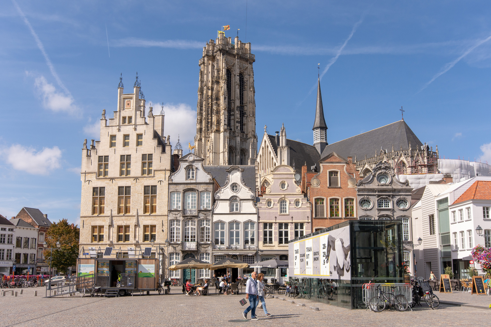
[[[253,165],[256,159],[255,57],[250,43],[220,33],[199,59],[195,154],[206,165]]]

